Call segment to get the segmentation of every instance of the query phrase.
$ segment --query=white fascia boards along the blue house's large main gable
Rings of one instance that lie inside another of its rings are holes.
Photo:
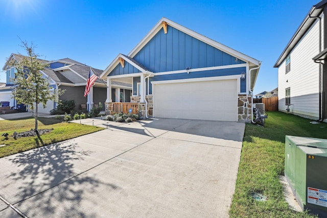
[[[143,46],[148,43],[152,37],[162,28],[161,27],[161,22],[162,21],[166,21],[167,24],[181,32],[184,32],[196,39],[199,39],[200,41],[203,41],[209,45],[212,45],[213,47],[216,47],[217,49],[223,51],[223,52],[226,52],[227,54],[230,54],[234,57],[237,57],[245,62],[251,62],[253,63],[254,65],[258,66],[259,65],[259,62],[258,60],[254,59],[254,58],[251,58],[243,53],[240,53],[236,50],[233,50],[231,49],[230,47],[226,46],[226,45],[223,45],[217,41],[214,41],[212,39],[209,39],[208,37],[206,36],[203,36],[197,32],[194,32],[193,30],[190,30],[188,28],[185,28],[181,25],[179,25],[178,23],[170,20],[170,19],[167,19],[166,17],[162,17],[159,22],[156,23],[156,25],[150,30],[150,32],[134,47],[134,49],[127,55],[129,57],[134,57],[137,52],[139,52]]]

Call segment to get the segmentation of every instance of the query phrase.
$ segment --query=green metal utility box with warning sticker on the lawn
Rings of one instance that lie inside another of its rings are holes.
[[[327,217],[327,139],[287,135],[285,176],[302,210]]]

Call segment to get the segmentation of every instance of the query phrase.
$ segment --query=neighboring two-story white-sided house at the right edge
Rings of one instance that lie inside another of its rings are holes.
[[[327,1],[313,6],[279,56],[278,110],[311,119],[327,118]]]

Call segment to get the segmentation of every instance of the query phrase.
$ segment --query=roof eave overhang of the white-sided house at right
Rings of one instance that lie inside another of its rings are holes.
[[[323,12],[323,6],[327,3],[327,0],[323,0],[318,4],[312,6],[306,17],[301,22],[300,26],[297,28],[296,32],[292,36],[291,40],[287,43],[281,56],[277,59],[274,67],[279,67],[285,60],[285,58],[291,53],[296,44],[301,40],[303,35],[307,33],[312,24],[316,21],[313,17],[318,17]]]

